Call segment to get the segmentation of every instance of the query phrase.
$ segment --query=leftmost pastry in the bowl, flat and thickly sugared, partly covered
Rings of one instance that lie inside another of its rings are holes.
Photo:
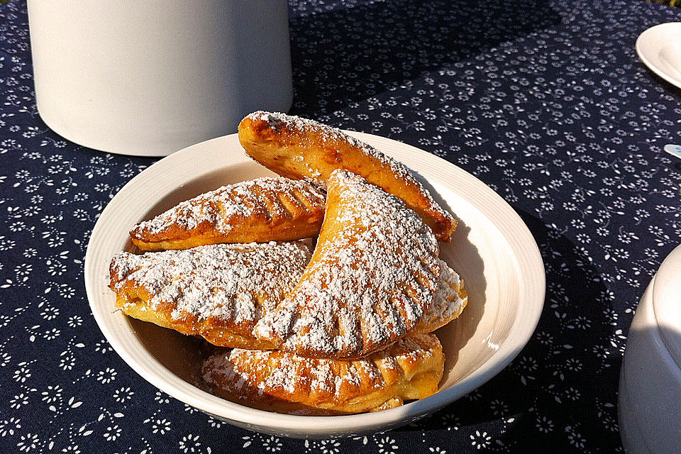
[[[299,281],[310,245],[205,245],[111,260],[116,308],[214,345],[272,348],[253,335],[255,322]]]

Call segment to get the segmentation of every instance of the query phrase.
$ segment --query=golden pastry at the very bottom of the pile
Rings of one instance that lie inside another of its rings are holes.
[[[204,381],[225,399],[289,414],[378,411],[435,394],[443,375],[434,334],[402,339],[361,360],[304,358],[235,348],[208,358]]]

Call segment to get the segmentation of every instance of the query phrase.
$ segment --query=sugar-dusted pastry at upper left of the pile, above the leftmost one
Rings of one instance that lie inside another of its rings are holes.
[[[229,184],[178,204],[130,232],[141,250],[216,243],[265,243],[319,233],[324,193],[305,180],[264,177]]]

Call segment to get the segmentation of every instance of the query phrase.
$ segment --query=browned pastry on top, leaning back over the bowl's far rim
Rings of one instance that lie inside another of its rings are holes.
[[[433,229],[438,240],[449,241],[456,228],[453,216],[433,200],[405,165],[339,129],[263,111],[243,118],[238,129],[246,153],[279,175],[326,181],[334,170],[350,170],[402,199]]]

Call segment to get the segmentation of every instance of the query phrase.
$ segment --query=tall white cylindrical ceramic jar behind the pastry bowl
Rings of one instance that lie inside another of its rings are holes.
[[[286,0],[28,0],[43,121],[96,150],[169,155],[287,111]]]

